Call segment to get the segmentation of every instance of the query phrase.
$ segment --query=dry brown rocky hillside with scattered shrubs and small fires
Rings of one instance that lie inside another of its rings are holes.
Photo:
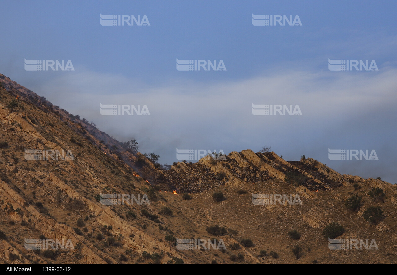
[[[0,263],[397,263],[395,185],[251,150],[162,170],[2,74],[0,83]],[[150,204],[104,205],[100,194]],[[258,204],[260,194],[275,201]],[[343,227],[333,224],[334,238],[378,249],[331,250],[333,222]],[[176,238],[227,249],[180,250]],[[28,250],[25,239],[73,249]]]

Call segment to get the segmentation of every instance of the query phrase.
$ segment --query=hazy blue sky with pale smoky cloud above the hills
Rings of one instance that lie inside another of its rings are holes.
[[[394,184],[396,10],[362,0],[5,0],[0,73],[162,164],[180,161],[177,149],[270,146]],[[45,66],[32,71],[37,60]],[[101,114],[100,104],[127,112]],[[140,111],[129,115],[131,105]]]

